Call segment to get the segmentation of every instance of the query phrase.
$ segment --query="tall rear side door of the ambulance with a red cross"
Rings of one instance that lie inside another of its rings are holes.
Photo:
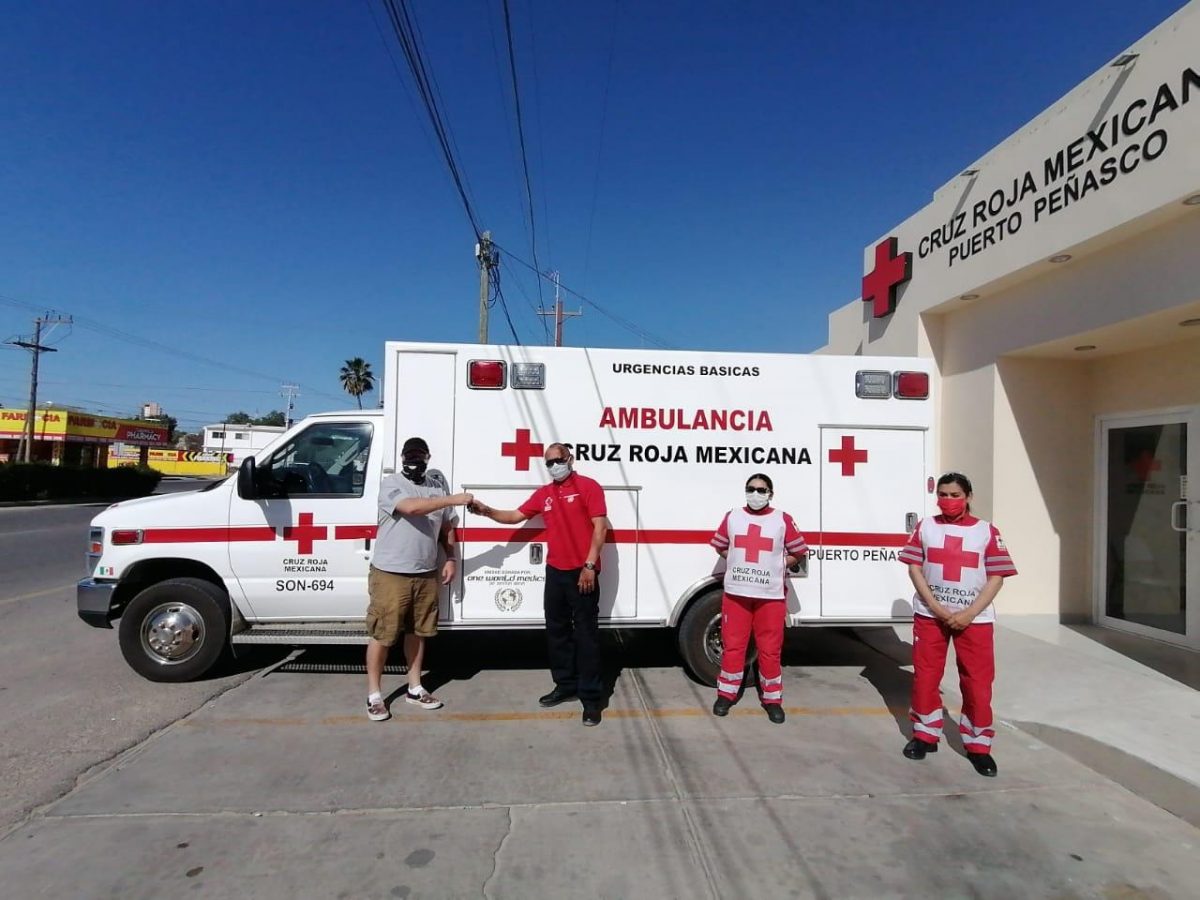
[[[925,505],[925,428],[821,427],[821,532],[810,540],[821,618],[912,614],[898,560]]]

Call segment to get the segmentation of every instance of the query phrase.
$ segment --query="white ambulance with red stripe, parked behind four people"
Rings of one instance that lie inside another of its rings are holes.
[[[764,473],[811,553],[792,625],[911,618],[899,548],[934,491],[930,366],[912,358],[388,343],[383,409],[312,415],[203,491],[118,503],[91,523],[84,622],[146,678],[197,678],[232,643],[364,643],[379,480],[428,442],[451,490],[521,505],[568,444],[605,490],[600,616],[673,628],[715,683],[724,562],[709,538]],[[541,520],[460,510],[442,629],[542,625]]]

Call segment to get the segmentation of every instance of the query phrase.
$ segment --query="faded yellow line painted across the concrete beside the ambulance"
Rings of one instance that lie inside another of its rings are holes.
[[[784,707],[788,715],[895,715],[907,710],[892,710],[887,707]],[[703,719],[713,714],[707,708],[680,707],[672,709],[650,709],[649,715],[655,719]],[[763,712],[755,708],[731,709],[730,715],[748,716],[763,715]],[[506,710],[499,713],[444,713],[418,715],[396,715],[395,720],[403,725],[436,725],[437,722],[528,722],[528,721],[566,721],[578,719],[580,712],[569,709],[541,709],[541,710]],[[605,719],[644,719],[647,712],[642,709],[606,709]],[[239,727],[246,725],[263,725],[274,727],[299,727],[299,726],[337,726],[337,725],[376,725],[361,715],[326,715],[319,719],[305,719],[300,716],[230,716],[222,719],[185,719],[182,725],[191,727]]]

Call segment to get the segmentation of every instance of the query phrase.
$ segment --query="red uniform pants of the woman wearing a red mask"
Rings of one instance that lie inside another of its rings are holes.
[[[942,695],[938,685],[946,671],[946,652],[954,641],[959,665],[962,716],[959,732],[968,754],[991,752],[996,730],[991,722],[991,683],[996,678],[991,623],[972,623],[961,631],[930,616],[912,617],[912,736],[936,744],[942,737]]]

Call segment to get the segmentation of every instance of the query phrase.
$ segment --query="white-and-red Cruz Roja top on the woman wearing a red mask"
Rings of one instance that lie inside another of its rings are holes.
[[[922,520],[900,551],[900,562],[919,565],[934,596],[952,612],[974,602],[992,575],[1016,575],[1000,532],[990,522],[971,517],[964,524]],[[929,606],[914,594],[913,612],[932,616]],[[996,607],[989,606],[976,622],[996,620]]]

